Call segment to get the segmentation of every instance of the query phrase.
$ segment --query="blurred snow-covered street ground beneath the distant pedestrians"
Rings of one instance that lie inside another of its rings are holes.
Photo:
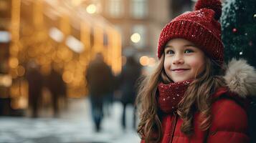
[[[70,99],[69,109],[60,118],[0,117],[1,143],[93,143],[140,142],[132,129],[132,107],[128,107],[128,129],[120,126],[122,105],[114,102],[113,112],[105,116],[102,130],[94,132],[87,99]],[[130,116],[130,117],[129,117]]]

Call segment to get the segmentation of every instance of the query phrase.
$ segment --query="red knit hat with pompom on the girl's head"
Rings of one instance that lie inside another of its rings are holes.
[[[199,0],[194,9],[177,16],[163,28],[158,40],[158,58],[161,58],[164,46],[169,40],[183,38],[193,42],[207,56],[222,64],[224,46],[218,21],[222,15],[221,2]]]

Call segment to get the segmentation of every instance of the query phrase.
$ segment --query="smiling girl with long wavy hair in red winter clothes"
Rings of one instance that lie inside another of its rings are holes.
[[[249,142],[255,69],[244,60],[224,68],[221,9],[219,0],[199,0],[161,31],[159,64],[138,94],[141,142]]]

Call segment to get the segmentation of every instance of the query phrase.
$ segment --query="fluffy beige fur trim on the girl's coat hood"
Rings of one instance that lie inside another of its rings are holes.
[[[243,98],[256,95],[256,71],[244,59],[232,59],[227,65],[224,79],[231,92]]]

